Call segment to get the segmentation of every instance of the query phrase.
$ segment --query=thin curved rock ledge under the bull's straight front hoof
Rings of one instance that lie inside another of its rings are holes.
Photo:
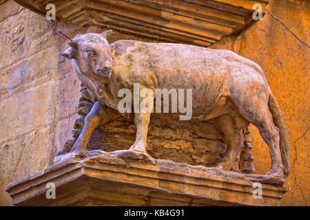
[[[110,152],[110,157],[118,157],[123,159],[142,160],[149,164],[155,164],[155,159],[151,157],[146,151],[120,150]]]

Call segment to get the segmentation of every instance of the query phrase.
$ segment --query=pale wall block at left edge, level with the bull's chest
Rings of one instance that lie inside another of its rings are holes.
[[[0,102],[1,142],[54,120],[54,83],[44,83]]]

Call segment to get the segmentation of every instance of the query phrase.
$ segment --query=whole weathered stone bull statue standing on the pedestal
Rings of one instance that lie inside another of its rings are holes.
[[[229,50],[193,45],[129,40],[109,44],[106,37],[111,32],[78,34],[68,41],[70,48],[61,53],[72,60],[76,75],[95,102],[72,151],[86,150],[96,126],[119,115],[120,89],[130,89],[133,94],[134,83],[152,91],[192,88],[193,120],[215,119],[225,135],[227,150],[216,165],[218,168],[231,168],[242,147],[240,130],[251,123],[269,146],[271,170],[267,175],[289,175],[287,128],[258,64]],[[134,113],[136,141],[127,151],[146,153],[150,114]]]

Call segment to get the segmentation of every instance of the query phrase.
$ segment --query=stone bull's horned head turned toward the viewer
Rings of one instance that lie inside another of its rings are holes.
[[[62,52],[61,56],[72,59],[73,67],[78,75],[110,78],[112,56],[106,38],[111,32],[112,30],[107,30],[101,34],[78,34],[72,41],[67,41],[70,47]]]

